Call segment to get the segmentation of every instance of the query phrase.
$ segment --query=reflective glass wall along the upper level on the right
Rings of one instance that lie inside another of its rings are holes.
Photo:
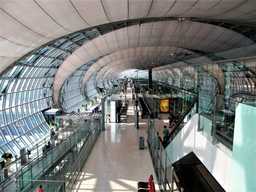
[[[224,152],[232,151],[236,97],[243,99],[243,102],[256,101],[255,98],[250,97],[250,95],[256,95],[255,70],[256,59],[153,69],[152,76],[155,80],[155,83],[152,83],[153,94],[159,91],[159,87],[163,87],[163,94],[169,92],[169,95],[163,95],[163,97],[179,97],[175,89],[164,88],[164,85],[156,82],[199,94],[199,131],[208,140],[213,140],[216,146]],[[159,81],[167,79],[169,76],[172,76],[172,84]],[[176,104],[181,105],[180,101],[177,101]]]

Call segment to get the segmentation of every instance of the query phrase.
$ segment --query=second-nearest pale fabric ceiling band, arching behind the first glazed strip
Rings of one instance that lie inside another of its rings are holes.
[[[144,46],[177,46],[179,36],[177,26],[179,22],[179,20],[159,21],[157,23],[141,24],[140,27],[139,25],[134,25],[121,28],[84,44],[60,66],[53,84],[55,100],[58,100],[60,88],[65,79],[71,74],[71,71],[76,70],[77,67],[94,58],[118,51],[121,51],[121,55],[123,55],[125,54],[123,50]],[[159,28],[162,29],[162,33],[159,33]],[[188,48],[201,49],[202,51],[210,53],[221,52],[254,43],[250,38],[232,30],[188,20],[184,21],[184,31],[185,38],[188,42],[186,46]],[[198,37],[195,38],[195,36]],[[230,36],[233,37],[232,41],[230,40]],[[236,36],[236,38],[234,36]],[[214,52],[212,52],[212,50],[214,50]],[[118,55],[116,57],[118,57]],[[92,73],[106,64],[104,59],[102,59],[101,62],[92,65],[85,73],[86,77],[84,81],[86,81]]]

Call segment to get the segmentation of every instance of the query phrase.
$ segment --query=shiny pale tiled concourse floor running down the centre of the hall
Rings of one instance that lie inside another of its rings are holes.
[[[126,99],[130,101],[127,123],[111,123],[106,131],[100,132],[73,192],[137,191],[137,182],[147,182],[151,174],[159,191],[147,144],[148,119],[140,118],[140,127],[135,131],[130,88]],[[139,149],[141,136],[145,139],[144,149]]]

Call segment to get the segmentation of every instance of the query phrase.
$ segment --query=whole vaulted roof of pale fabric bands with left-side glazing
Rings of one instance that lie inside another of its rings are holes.
[[[75,110],[88,100],[86,84],[108,85],[124,70],[255,44],[255,12],[255,0],[1,1],[0,152],[43,139],[49,125],[42,111],[56,107],[60,95],[66,104],[79,98],[66,105]],[[178,18],[186,18],[190,56],[170,55]]]

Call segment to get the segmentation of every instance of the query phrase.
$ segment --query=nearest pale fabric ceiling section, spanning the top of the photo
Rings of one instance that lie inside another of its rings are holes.
[[[0,69],[4,70],[43,44],[84,28],[153,17],[196,17],[255,23],[255,5],[255,0],[1,1]]]

